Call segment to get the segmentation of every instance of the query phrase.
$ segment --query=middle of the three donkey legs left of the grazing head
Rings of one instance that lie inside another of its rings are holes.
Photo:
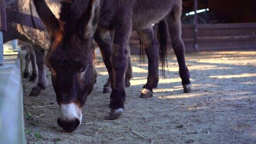
[[[29,81],[36,81],[36,77],[37,77],[36,56],[35,56],[34,48],[32,47],[32,45],[28,46],[28,53],[32,63],[32,75],[29,76]]]

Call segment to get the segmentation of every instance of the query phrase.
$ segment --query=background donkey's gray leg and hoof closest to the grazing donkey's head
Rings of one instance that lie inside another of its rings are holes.
[[[46,78],[46,66],[44,65],[44,50],[35,50],[36,54],[36,64],[38,68],[38,83],[35,87],[32,88],[30,96],[38,96],[41,90],[44,90],[47,86]]]

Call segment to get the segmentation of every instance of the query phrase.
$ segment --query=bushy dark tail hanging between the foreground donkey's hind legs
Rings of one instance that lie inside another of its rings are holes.
[[[165,77],[165,66],[168,68],[167,49],[169,48],[169,30],[166,20],[161,20],[158,24],[157,40],[159,42],[159,64],[162,76]]]

